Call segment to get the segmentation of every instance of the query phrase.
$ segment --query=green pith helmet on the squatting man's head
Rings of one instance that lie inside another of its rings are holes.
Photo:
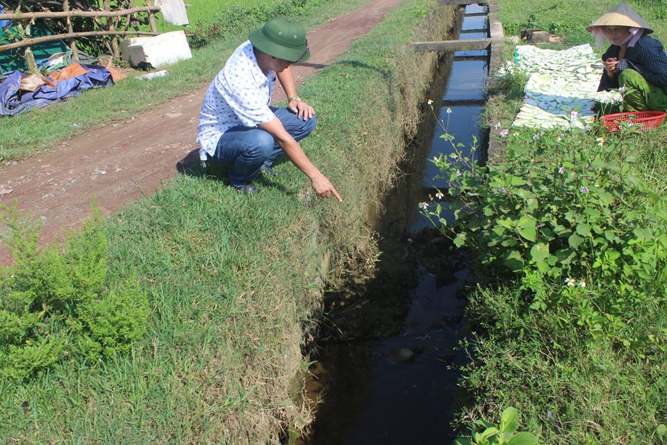
[[[288,62],[305,62],[311,56],[304,27],[290,17],[270,19],[250,31],[249,38],[256,49]]]

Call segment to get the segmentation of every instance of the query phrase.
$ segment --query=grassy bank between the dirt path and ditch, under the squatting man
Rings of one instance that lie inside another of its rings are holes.
[[[405,1],[299,88],[318,112],[304,149],[343,204],[283,163],[258,196],[195,171],[108,221],[110,280],[138,277],[149,334],[129,355],[1,381],[2,442],[277,444],[307,423],[304,330],[322,275],[374,252],[365,209],[415,131],[435,56],[408,43],[443,34],[436,3]]]

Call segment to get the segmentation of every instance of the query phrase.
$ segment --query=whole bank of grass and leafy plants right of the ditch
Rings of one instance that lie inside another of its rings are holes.
[[[569,46],[593,44],[584,27],[617,2],[497,3],[506,34],[541,28],[561,33]],[[628,3],[664,42],[664,3]],[[472,364],[461,385],[472,401],[461,410],[461,423],[497,424],[512,405],[522,429],[539,443],[664,443],[667,127],[623,136],[603,128],[518,130],[515,136],[511,122],[522,81],[506,79],[491,91],[486,109],[487,122],[510,129],[507,138],[491,130],[501,147],[492,175],[509,182],[470,189],[484,193],[479,214],[509,222],[507,231],[489,229],[486,238],[466,231],[470,252],[486,261],[487,275],[493,265],[494,274],[468,309],[477,334],[467,343]],[[522,213],[518,225],[504,207],[508,196]],[[551,232],[554,227],[561,232]],[[639,227],[655,232],[644,237]],[[501,242],[504,252],[493,258]],[[641,257],[644,248],[651,253]]]

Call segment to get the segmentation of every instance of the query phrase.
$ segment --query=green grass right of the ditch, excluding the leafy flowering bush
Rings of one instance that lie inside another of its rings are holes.
[[[522,28],[545,29],[562,33],[563,41],[571,46],[593,44],[584,27],[617,3],[584,1],[575,6],[563,0],[502,0],[498,5],[507,34],[518,35]],[[665,3],[638,0],[628,4],[653,26],[654,37],[665,42]],[[512,52],[505,48],[507,60]],[[522,81],[525,79],[507,79],[502,88],[491,92],[485,110],[490,127],[495,122],[509,127],[522,101]],[[595,136],[615,137],[591,134],[591,145]],[[546,132],[542,137],[554,135]],[[634,155],[642,160],[634,173],[649,191],[661,196],[667,190],[666,137],[663,125],[632,139]],[[501,140],[500,157],[504,156],[502,145]],[[656,430],[667,423],[664,344],[638,353],[604,338],[591,338],[568,309],[528,309],[532,294],[520,291],[520,284],[505,277],[502,283],[472,295],[468,314],[479,334],[468,343],[473,364],[464,372],[461,386],[470,391],[472,400],[461,410],[461,419],[497,419],[504,407],[513,405],[522,414],[522,428],[536,433],[540,443],[664,443]],[[644,291],[653,302],[641,316],[628,320],[626,327],[640,337],[665,332],[667,327],[664,289]],[[588,292],[593,300],[596,290]]]

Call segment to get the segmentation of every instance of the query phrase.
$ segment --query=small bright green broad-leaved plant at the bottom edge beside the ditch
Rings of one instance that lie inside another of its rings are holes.
[[[473,423],[470,439],[459,437],[454,445],[535,445],[537,437],[531,432],[516,432],[519,429],[519,412],[507,407],[500,417],[500,426],[484,420]]]

